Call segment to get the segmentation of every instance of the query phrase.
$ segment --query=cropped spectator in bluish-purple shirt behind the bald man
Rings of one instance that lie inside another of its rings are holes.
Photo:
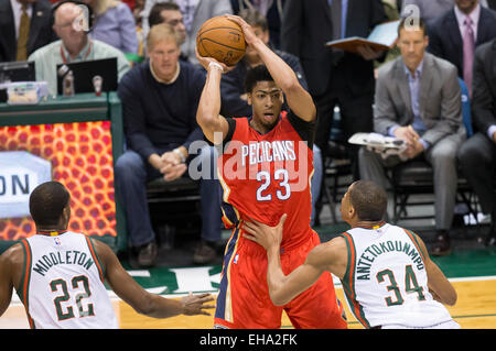
[[[129,6],[119,0],[83,0],[95,13],[91,37],[125,54],[138,53],[136,22]]]

